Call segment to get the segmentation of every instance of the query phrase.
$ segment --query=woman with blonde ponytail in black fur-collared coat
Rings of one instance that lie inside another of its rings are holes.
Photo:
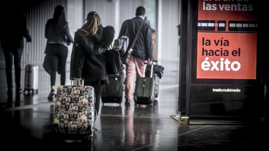
[[[76,81],[83,78],[84,85],[94,87],[97,114],[104,85],[109,83],[106,51],[113,41],[114,33],[113,27],[101,25],[96,12],[88,13],[87,23],[75,33],[70,77]]]

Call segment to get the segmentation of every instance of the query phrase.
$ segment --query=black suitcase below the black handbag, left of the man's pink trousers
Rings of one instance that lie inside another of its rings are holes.
[[[124,86],[124,74],[119,72],[109,75],[109,84],[105,84],[101,94],[102,103],[119,103],[122,102]]]

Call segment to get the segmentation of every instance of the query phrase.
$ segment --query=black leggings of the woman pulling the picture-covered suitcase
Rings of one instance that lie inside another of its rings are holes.
[[[100,106],[100,99],[101,99],[101,94],[104,88],[105,84],[98,84],[98,83],[94,83],[91,81],[84,81],[84,85],[88,85],[88,86],[92,86],[94,87],[94,93],[95,93],[95,109],[97,111],[97,115],[99,112],[99,106]],[[96,117],[97,117],[96,115]]]

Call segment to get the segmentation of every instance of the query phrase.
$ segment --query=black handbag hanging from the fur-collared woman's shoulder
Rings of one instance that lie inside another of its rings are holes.
[[[120,53],[117,49],[107,51],[107,72],[108,74],[116,74],[125,68],[120,60]]]

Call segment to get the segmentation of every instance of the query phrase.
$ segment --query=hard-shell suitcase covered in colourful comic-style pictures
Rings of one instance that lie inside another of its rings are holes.
[[[64,138],[87,138],[94,134],[95,93],[92,86],[60,85],[57,89],[53,132]]]

